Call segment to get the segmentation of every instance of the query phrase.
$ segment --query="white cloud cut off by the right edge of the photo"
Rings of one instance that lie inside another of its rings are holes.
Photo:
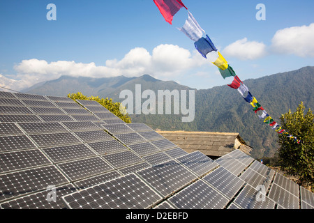
[[[281,54],[314,56],[314,23],[278,30],[272,39],[272,50]]]

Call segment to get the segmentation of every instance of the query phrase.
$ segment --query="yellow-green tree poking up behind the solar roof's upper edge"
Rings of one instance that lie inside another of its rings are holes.
[[[121,103],[119,102],[114,102],[111,98],[99,98],[91,96],[91,97],[87,97],[85,95],[83,95],[81,92],[77,92],[77,93],[69,93],[68,94],[68,98],[71,98],[72,100],[95,100],[96,102],[98,102],[100,105],[103,105],[103,107],[105,107],[106,109],[108,109],[110,112],[112,112],[113,114],[115,114],[116,116],[118,116],[119,118],[121,118],[121,120],[125,121],[126,123],[131,123],[131,118],[130,116],[128,116],[128,114],[126,114],[126,108],[125,107],[121,107]]]

